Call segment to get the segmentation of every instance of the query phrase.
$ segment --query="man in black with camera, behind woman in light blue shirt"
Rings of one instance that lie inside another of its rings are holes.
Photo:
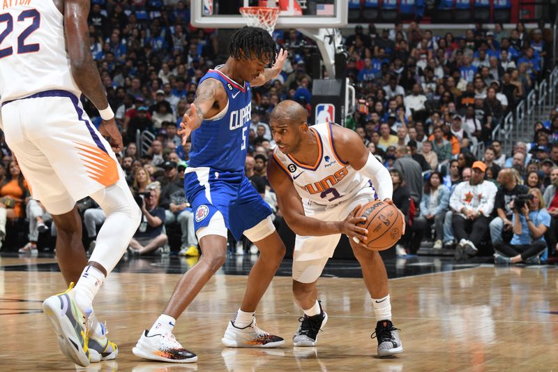
[[[497,178],[500,187],[496,193],[494,201],[494,209],[496,210],[496,217],[490,221],[490,240],[492,246],[500,244],[504,241],[503,234],[511,233],[511,218],[513,216],[513,209],[511,208],[512,200],[515,200],[520,194],[527,194],[529,188],[518,184],[518,180],[513,174],[511,168],[504,168],[498,174]],[[510,237],[508,236],[508,240]]]

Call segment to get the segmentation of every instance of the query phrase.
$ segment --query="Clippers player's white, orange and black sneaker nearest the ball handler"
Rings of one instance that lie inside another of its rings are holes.
[[[229,348],[276,348],[285,343],[281,337],[259,329],[256,318],[243,328],[236,327],[234,320],[231,320],[221,341]]]

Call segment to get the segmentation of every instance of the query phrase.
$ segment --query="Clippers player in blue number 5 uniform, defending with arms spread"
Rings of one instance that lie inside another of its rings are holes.
[[[248,275],[246,292],[223,343],[232,348],[273,348],[283,339],[256,325],[255,310],[285,255],[271,222],[271,209],[244,176],[250,128],[251,87],[264,84],[282,70],[287,52],[276,57],[276,45],[263,29],[244,27],[229,40],[230,57],[199,82],[196,98],[179,133],[183,144],[192,133],[186,197],[195,211],[195,230],[202,250],[199,262],[182,276],[150,330],[133,348],[138,357],[166,362],[194,362],[172,335],[176,319],[223,265],[227,229],[235,239],[244,234],[259,248]],[[273,66],[266,68],[269,64]]]

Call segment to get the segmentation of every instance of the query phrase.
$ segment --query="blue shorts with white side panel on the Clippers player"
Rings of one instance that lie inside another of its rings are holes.
[[[222,172],[213,168],[186,168],[186,198],[194,211],[197,231],[209,225],[220,211],[225,226],[239,240],[244,231],[270,216],[272,211],[243,172]]]

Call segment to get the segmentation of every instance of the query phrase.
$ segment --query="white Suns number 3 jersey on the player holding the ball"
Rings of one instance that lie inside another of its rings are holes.
[[[335,125],[322,123],[310,126],[319,146],[319,156],[314,165],[301,164],[292,156],[283,154],[278,147],[273,151],[273,158],[289,174],[303,202],[338,204],[351,200],[363,188],[370,188],[370,193],[376,195],[372,182],[342,161],[335,151],[331,131],[331,126]]]

